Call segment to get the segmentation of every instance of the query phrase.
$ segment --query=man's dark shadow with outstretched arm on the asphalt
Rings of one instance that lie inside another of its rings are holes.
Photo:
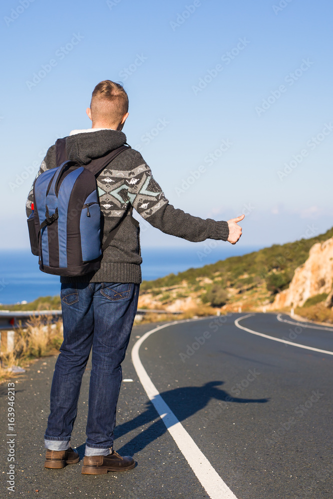
[[[179,421],[192,416],[196,412],[204,409],[210,400],[226,401],[228,403],[248,404],[257,403],[262,404],[268,402],[269,399],[244,399],[231,397],[224,390],[216,388],[218,385],[223,385],[224,381],[210,381],[203,386],[186,386],[182,388],[175,388],[167,392],[162,392],[161,397],[170,407],[172,412]],[[123,423],[116,427],[114,437],[120,438],[132,430],[146,425],[157,418],[157,412],[153,404],[147,402],[147,409],[145,412],[136,416],[131,421]],[[209,416],[208,416],[209,419]],[[118,449],[121,455],[130,455],[141,451],[148,444],[156,440],[167,431],[163,421],[159,419],[155,421],[149,428],[142,431],[139,435],[134,437],[130,442],[125,444],[121,449]]]

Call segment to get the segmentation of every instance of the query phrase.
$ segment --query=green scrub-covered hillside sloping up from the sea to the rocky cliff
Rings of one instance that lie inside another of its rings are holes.
[[[311,239],[273,245],[200,268],[143,281],[140,294],[149,294],[165,306],[192,296],[215,307],[242,304],[244,308],[256,308],[273,302],[275,294],[289,286],[296,267],[308,258],[310,248],[331,237],[333,228]]]

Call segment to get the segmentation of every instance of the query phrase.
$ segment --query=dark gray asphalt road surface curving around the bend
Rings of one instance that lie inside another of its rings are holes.
[[[333,355],[241,330],[234,321],[244,315],[181,322],[156,331],[139,350],[142,364],[237,499],[333,499]],[[138,337],[159,324],[133,328],[123,363],[123,378],[133,381],[122,383],[115,449],[133,455],[136,468],[96,477],[82,476],[81,462],[63,470],[43,468],[43,434],[55,363],[55,357],[48,357],[32,364],[15,383],[12,493],[7,493],[5,484],[7,386],[1,387],[1,498],[209,498],[149,401],[131,362]],[[240,325],[333,352],[333,330],[306,328],[296,321],[293,325],[278,321],[275,314],[260,313],[242,319]],[[87,368],[72,436],[72,446],[82,457],[88,384]]]

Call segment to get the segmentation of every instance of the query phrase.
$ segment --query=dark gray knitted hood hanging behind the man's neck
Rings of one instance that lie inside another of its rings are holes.
[[[92,133],[76,133],[66,137],[68,159],[87,165],[92,159],[124,145],[126,135],[119,130],[98,130]]]

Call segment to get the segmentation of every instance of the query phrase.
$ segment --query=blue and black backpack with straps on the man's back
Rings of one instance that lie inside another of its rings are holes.
[[[68,160],[66,138],[58,139],[55,147],[57,167],[41,173],[33,185],[32,213],[27,221],[31,251],[39,256],[43,272],[84,275],[99,269],[102,252],[125,218],[102,246],[96,177],[130,146],[114,149],[85,166]]]

